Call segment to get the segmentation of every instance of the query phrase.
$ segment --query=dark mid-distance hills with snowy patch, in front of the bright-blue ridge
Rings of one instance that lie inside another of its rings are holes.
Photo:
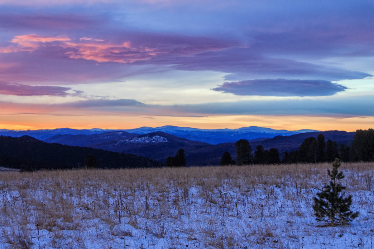
[[[307,137],[317,137],[324,134],[326,140],[337,141],[338,144],[349,145],[354,132],[346,131],[315,131],[298,133],[291,136],[276,136],[273,138],[255,138],[249,140],[252,150],[262,145],[265,150],[277,148],[281,153],[298,150]],[[184,149],[187,165],[218,165],[225,151],[235,158],[234,143],[208,144],[191,141],[161,131],[148,134],[131,134],[123,131],[107,132],[93,135],[56,135],[45,140],[48,143],[61,143],[73,146],[88,146],[96,149],[114,152],[130,153],[146,158],[152,158],[165,163],[168,156],[174,156],[178,149]]]

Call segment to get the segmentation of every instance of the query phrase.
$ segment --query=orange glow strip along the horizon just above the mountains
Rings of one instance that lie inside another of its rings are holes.
[[[143,126],[175,125],[200,129],[267,127],[276,130],[344,130],[356,131],[374,128],[374,117],[331,118],[313,116],[122,116],[122,115],[1,115],[0,129],[39,130],[55,128],[74,129],[133,129]]]

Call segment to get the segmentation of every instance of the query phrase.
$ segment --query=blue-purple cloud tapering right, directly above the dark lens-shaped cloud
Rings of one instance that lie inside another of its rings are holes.
[[[264,56],[258,50],[249,48],[230,48],[217,52],[200,53],[190,57],[152,58],[154,63],[170,63],[178,70],[212,70],[227,72],[226,80],[245,80],[248,78],[300,78],[324,79],[330,81],[344,79],[362,79],[372,76],[365,72]]]

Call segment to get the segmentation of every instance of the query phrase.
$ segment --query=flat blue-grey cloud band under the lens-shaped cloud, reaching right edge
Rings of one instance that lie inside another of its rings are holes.
[[[324,99],[246,100],[169,106],[169,112],[196,115],[374,116],[374,96]]]

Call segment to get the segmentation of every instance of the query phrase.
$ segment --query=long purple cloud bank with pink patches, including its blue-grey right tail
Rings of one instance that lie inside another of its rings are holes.
[[[139,65],[144,66],[142,72],[154,71],[156,69],[151,67],[157,65],[162,66],[157,70],[168,67],[188,71],[228,72],[231,74],[226,79],[230,81],[242,81],[263,74],[269,78],[282,75],[282,78],[299,79],[310,76],[315,78],[318,75],[318,78],[329,81],[370,76],[362,72],[264,56],[261,54],[264,50],[261,45],[255,43],[246,47],[231,39],[140,31],[113,35],[108,33],[105,40],[101,37],[98,34],[95,37],[82,34],[80,38],[66,35],[17,35],[11,39],[12,45],[0,47],[0,59],[14,64],[12,70],[0,68],[1,79],[23,83],[98,82],[139,74],[140,71],[135,68]],[[278,40],[281,39],[262,37],[264,43]],[[124,67],[121,65],[123,63],[128,65]]]

